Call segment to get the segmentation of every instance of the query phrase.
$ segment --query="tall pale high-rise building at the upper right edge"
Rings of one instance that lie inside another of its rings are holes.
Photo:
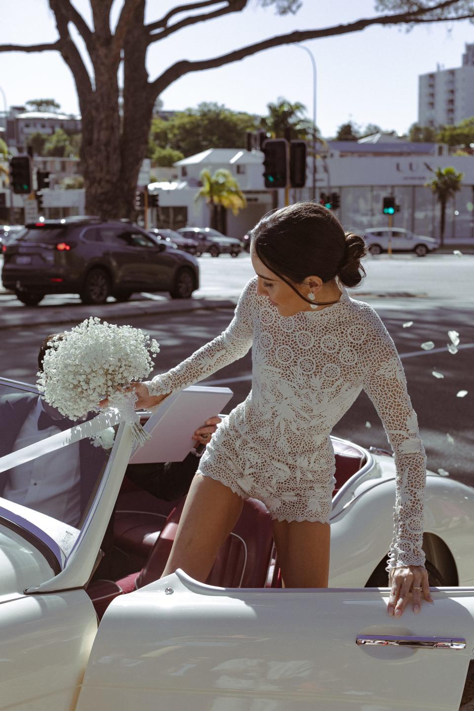
[[[474,116],[474,44],[466,44],[463,65],[421,74],[418,123],[439,127]]]

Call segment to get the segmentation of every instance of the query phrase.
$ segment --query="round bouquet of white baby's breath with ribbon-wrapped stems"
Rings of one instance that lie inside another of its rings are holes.
[[[45,353],[38,390],[46,402],[70,419],[99,412],[105,397],[109,408],[119,410],[139,444],[149,439],[134,410],[136,395],[128,386],[153,370],[158,343],[148,333],[131,326],[101,323],[96,317],[71,331],[53,336]]]

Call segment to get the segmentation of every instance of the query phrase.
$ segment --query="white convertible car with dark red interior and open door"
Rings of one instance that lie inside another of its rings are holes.
[[[458,710],[474,636],[473,488],[428,474],[435,604],[417,615],[387,615],[392,456],[341,439],[329,589],[279,587],[254,500],[206,584],[180,570],[159,579],[181,504],[124,479],[129,427],[99,415],[12,454],[18,402],[35,398],[0,380],[0,493],[12,465],[58,462],[70,447],[93,481],[77,528],[0,498],[1,710]],[[89,437],[117,424],[112,450],[92,451]],[[98,579],[114,507],[116,573]]]

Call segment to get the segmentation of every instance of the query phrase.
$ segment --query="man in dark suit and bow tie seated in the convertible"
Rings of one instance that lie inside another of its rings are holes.
[[[45,338],[38,353],[38,368],[53,335]],[[208,419],[193,439],[206,444],[217,429],[219,417]],[[75,422],[32,393],[0,397],[2,437],[0,456],[50,437]],[[197,453],[196,453],[197,454]],[[199,459],[190,453],[179,462],[129,464],[128,479],[158,498],[174,501],[188,493]],[[87,504],[107,464],[108,453],[87,437],[32,461],[0,473],[0,496],[46,513],[65,523],[79,525]]]

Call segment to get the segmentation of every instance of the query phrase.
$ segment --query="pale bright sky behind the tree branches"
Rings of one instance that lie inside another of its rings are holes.
[[[112,21],[122,1],[114,0]],[[91,23],[89,2],[75,0],[74,4]],[[148,0],[147,21],[179,4],[179,0]],[[276,16],[274,9],[263,9],[251,0],[240,13],[184,28],[154,43],[147,69],[153,80],[181,59],[211,58],[295,29],[375,15],[375,0],[303,0],[294,16]],[[56,38],[47,0],[9,3],[8,13],[2,16],[2,43],[37,44]],[[333,136],[348,121],[406,132],[417,119],[418,75],[435,71],[438,63],[441,68],[460,66],[466,42],[474,42],[474,25],[468,21],[415,26],[408,33],[397,26],[375,26],[304,43],[316,60],[316,123],[323,136]],[[72,76],[57,52],[0,53],[0,89],[1,109],[5,101],[9,106],[24,105],[51,97],[64,112],[79,111]],[[190,73],[168,87],[161,100],[168,110],[207,101],[265,114],[266,105],[278,97],[303,103],[308,117],[313,117],[311,59],[296,46],[272,48],[221,68]]]

